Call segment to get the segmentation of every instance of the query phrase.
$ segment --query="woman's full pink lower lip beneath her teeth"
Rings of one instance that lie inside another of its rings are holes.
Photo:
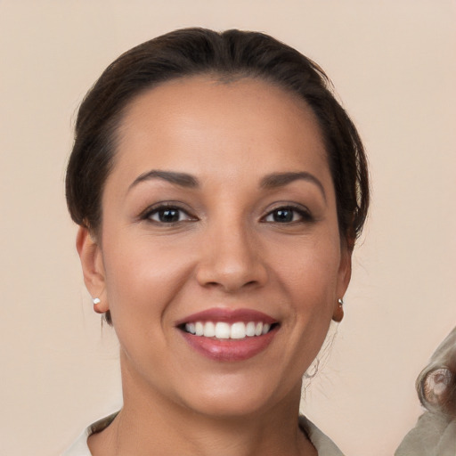
[[[253,338],[219,339],[194,336],[181,330],[183,338],[199,354],[216,361],[244,361],[263,352],[271,344],[278,328]]]

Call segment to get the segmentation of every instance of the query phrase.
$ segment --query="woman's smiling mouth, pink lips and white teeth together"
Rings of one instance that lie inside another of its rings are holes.
[[[176,322],[176,328],[199,354],[216,361],[242,361],[269,346],[280,322],[249,309],[216,308],[189,315]]]

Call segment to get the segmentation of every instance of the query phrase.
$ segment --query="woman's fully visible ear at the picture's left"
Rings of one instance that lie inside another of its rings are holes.
[[[106,297],[102,248],[84,226],[79,226],[77,231],[76,248],[81,260],[85,287],[92,297],[100,299],[100,303],[95,306],[95,312],[104,314],[110,310],[110,306]]]

